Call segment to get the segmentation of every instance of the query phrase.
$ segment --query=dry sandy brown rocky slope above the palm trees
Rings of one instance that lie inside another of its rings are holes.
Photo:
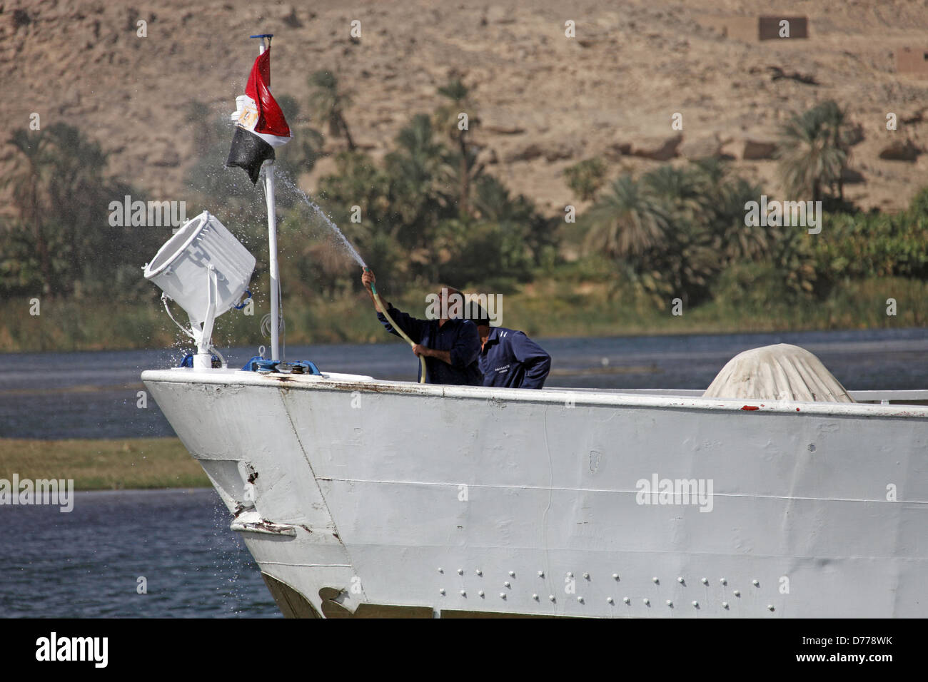
[[[810,39],[749,44],[699,23],[773,10],[808,16]],[[136,19],[148,21],[148,37],[136,36]],[[357,42],[353,19],[361,21]],[[568,19],[574,39],[564,35]],[[774,139],[790,112],[828,98],[864,134],[852,157],[862,181],[846,187],[848,196],[893,209],[928,184],[928,153],[879,159],[894,141],[928,147],[928,79],[897,74],[894,57],[903,45],[928,48],[926,28],[925,0],[13,0],[0,13],[0,116],[5,131],[27,125],[33,111],[43,125],[76,124],[111,152],[112,172],[172,199],[190,161],[183,105],[200,99],[230,112],[255,56],[248,35],[273,32],[275,92],[305,110],[306,75],[336,71],[354,95],[354,137],[375,156],[413,113],[434,109],[449,73],[462,73],[479,108],[475,138],[487,168],[552,214],[577,203],[562,175],[576,161],[602,155],[614,173],[659,163],[627,152],[662,148],[674,112],[683,114],[683,139],[665,149],[675,158],[728,154],[776,194],[775,161],[743,160],[745,141]],[[818,84],[775,78],[774,67]],[[896,132],[885,130],[889,111],[900,119]],[[0,171],[13,160],[0,148]],[[331,169],[323,161],[303,184]]]

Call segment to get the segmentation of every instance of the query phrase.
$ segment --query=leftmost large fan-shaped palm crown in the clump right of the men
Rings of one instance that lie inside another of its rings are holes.
[[[670,227],[668,212],[629,174],[612,183],[586,220],[587,247],[613,258],[643,255],[666,239]]]

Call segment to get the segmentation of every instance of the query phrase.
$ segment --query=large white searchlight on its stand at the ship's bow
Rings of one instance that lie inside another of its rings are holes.
[[[177,230],[145,266],[145,278],[163,291],[168,315],[167,302],[173,299],[190,317],[189,329],[174,323],[197,344],[194,368],[213,367],[213,322],[241,299],[254,264],[254,256],[226,225],[204,211]]]

